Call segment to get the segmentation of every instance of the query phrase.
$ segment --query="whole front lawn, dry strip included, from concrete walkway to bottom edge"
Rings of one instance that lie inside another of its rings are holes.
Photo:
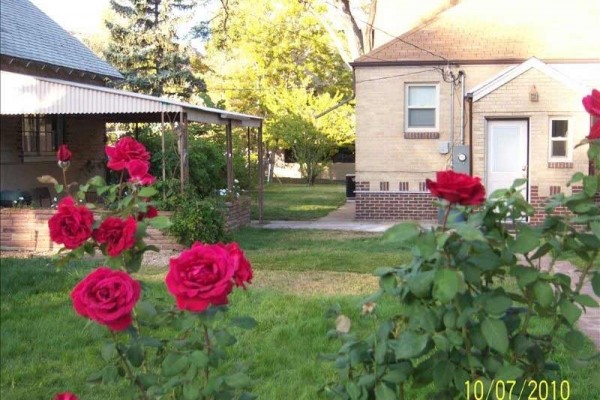
[[[336,372],[319,354],[340,346],[326,338],[333,321],[325,312],[339,303],[353,332],[372,331],[378,318],[396,310],[383,299],[376,316],[360,315],[361,299],[377,286],[369,272],[398,265],[407,255],[365,233],[248,228],[235,239],[246,249],[256,275],[248,292],[237,291],[230,298],[231,314],[252,315],[259,324],[237,334],[232,359],[248,367],[253,392],[262,399],[324,398],[318,391]],[[49,399],[62,390],[85,400],[122,398],[122,387],[85,383],[102,365],[98,343],[108,337],[105,329],[75,314],[69,292],[92,267],[84,262],[58,272],[44,258],[2,259],[2,399]],[[137,274],[147,285],[145,296],[172,301],[164,272],[150,267]],[[563,347],[554,359],[570,381],[572,399],[598,398],[600,362],[577,367]],[[425,397],[413,392],[411,398]]]

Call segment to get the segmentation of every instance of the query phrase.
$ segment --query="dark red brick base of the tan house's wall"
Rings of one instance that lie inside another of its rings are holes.
[[[368,182],[356,183],[358,220],[437,220],[438,209],[429,192],[369,192],[368,187]]]

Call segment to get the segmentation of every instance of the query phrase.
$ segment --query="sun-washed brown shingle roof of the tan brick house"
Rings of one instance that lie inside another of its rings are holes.
[[[522,62],[529,57],[600,62],[600,1],[463,0],[355,64]]]

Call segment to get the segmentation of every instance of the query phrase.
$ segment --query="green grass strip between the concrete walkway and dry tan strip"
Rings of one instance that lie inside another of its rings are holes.
[[[398,266],[408,255],[365,232],[244,228],[234,239],[263,270],[371,273]]]

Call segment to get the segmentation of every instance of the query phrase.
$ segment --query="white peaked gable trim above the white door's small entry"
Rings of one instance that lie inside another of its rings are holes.
[[[468,91],[468,94],[473,97],[473,101],[478,101],[486,95],[493,92],[494,90],[498,89],[501,86],[504,86],[508,82],[524,74],[532,68],[563,83],[565,86],[568,86],[571,89],[580,92],[582,95],[589,91],[588,88],[575,81],[571,77],[563,74],[562,72],[557,71],[556,69],[550,67],[548,64],[541,62],[537,58],[532,57],[529,60],[525,61],[523,64],[507,68],[504,71],[501,71],[497,75],[493,76],[492,78],[488,79],[487,81],[482,82],[481,84],[473,87],[471,90]]]

